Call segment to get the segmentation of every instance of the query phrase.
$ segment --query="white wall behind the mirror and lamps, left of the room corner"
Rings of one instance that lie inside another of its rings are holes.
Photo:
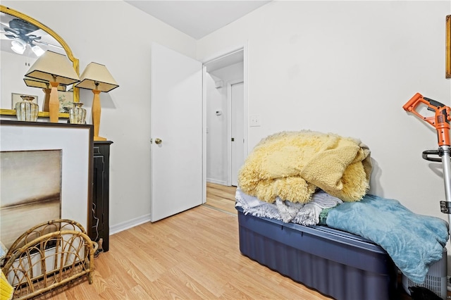
[[[118,88],[100,95],[99,135],[114,142],[110,227],[114,232],[115,228],[149,220],[150,45],[157,42],[194,57],[196,41],[124,1],[2,0],[1,4],[57,32],[80,59],[80,73],[94,61],[106,65],[118,82]],[[91,91],[80,90],[89,121],[92,97]]]

